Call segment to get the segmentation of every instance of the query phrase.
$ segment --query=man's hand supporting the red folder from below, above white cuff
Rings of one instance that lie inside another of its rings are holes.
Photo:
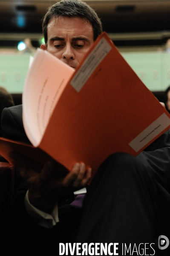
[[[84,163],[76,163],[68,174],[61,171],[61,165],[48,161],[40,172],[29,168],[28,159],[16,152],[10,153],[13,163],[28,184],[29,201],[44,212],[51,212],[58,199],[87,185],[91,178],[91,168]],[[63,175],[64,173],[64,175]]]

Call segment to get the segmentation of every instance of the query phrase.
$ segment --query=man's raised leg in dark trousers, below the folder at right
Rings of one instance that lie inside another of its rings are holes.
[[[101,165],[90,185],[77,241],[154,243],[155,255],[159,255],[158,236],[169,235],[169,206],[169,193],[143,154],[113,154]],[[154,250],[147,252],[150,255]]]

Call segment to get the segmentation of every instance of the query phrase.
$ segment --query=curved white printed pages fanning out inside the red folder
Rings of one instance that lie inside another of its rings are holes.
[[[37,147],[49,118],[75,69],[47,51],[37,49],[30,58],[23,88],[23,126]]]

